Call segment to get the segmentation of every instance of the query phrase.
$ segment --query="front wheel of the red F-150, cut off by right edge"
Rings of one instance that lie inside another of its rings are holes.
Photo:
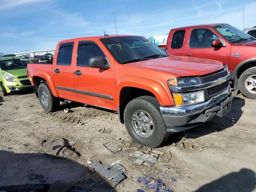
[[[256,67],[249,68],[238,79],[238,88],[250,99],[256,99]]]

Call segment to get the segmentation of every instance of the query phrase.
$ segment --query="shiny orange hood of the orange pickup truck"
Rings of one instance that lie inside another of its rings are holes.
[[[170,72],[178,76],[202,76],[223,68],[222,62],[185,56],[168,56],[124,65]]]

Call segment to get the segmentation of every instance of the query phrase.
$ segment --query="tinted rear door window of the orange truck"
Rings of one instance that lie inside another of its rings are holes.
[[[73,45],[73,42],[60,44],[57,65],[71,65]]]

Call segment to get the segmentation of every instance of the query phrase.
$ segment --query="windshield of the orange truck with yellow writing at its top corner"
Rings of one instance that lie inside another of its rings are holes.
[[[104,38],[101,42],[121,64],[169,56],[164,50],[143,37]]]

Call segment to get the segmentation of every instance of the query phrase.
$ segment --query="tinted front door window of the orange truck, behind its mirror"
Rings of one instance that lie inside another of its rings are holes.
[[[89,42],[78,45],[77,54],[77,66],[89,66],[89,60],[91,57],[101,56],[104,57],[102,51],[96,46],[96,44]]]

